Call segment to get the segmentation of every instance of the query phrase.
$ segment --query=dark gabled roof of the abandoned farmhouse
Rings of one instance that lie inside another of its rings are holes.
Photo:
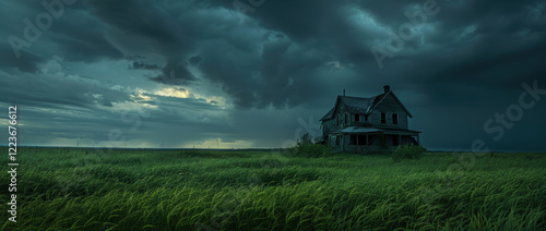
[[[349,113],[369,114],[389,94],[391,94],[394,97],[394,99],[402,106],[402,109],[404,109],[407,115],[410,118],[413,118],[412,113],[410,113],[407,108],[404,107],[402,101],[400,101],[399,97],[396,97],[394,93],[392,93],[392,90],[389,90],[388,93],[383,93],[370,98],[354,97],[354,96],[337,96],[337,98],[335,99],[334,107],[330,109],[330,111],[328,111],[328,113],[324,114],[324,117],[322,117],[320,121],[332,119],[335,113],[335,109],[340,104],[344,105]]]

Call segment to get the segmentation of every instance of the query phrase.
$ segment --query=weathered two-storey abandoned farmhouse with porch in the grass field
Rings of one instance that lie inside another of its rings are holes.
[[[385,85],[370,97],[337,96],[321,121],[322,137],[335,150],[375,151],[402,144],[419,144],[419,133],[408,130],[412,113]]]

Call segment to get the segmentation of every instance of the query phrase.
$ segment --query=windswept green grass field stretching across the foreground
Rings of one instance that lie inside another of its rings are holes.
[[[278,151],[19,148],[17,155],[17,222],[8,221],[4,171],[1,230],[546,229],[544,154],[402,161]],[[0,163],[9,170],[8,160]]]

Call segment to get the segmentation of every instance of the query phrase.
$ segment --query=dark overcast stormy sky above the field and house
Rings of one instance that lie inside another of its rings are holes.
[[[16,105],[20,146],[283,147],[388,84],[429,149],[545,151],[545,7],[5,0],[0,124]]]

